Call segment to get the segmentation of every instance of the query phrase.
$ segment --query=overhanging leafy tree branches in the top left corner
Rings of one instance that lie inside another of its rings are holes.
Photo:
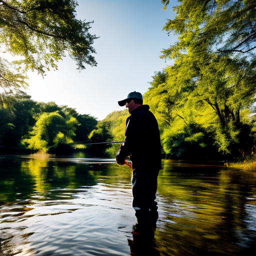
[[[26,87],[27,69],[44,74],[57,68],[66,52],[78,69],[96,65],[90,24],[75,18],[75,0],[0,0],[0,46],[19,56],[8,63],[0,58],[0,86],[6,91]],[[3,101],[3,97],[1,96]]]

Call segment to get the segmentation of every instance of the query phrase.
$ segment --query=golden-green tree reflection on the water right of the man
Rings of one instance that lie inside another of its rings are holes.
[[[167,250],[173,255],[191,255],[193,249],[202,255],[237,251],[237,232],[245,229],[243,186],[226,169],[208,167],[207,174],[198,174],[205,172],[202,168],[164,161],[157,189],[164,216],[155,233],[161,251],[170,242]]]

